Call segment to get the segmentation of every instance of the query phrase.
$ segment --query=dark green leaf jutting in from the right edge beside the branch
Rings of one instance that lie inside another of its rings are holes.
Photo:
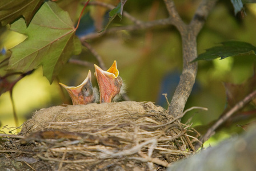
[[[222,42],[221,46],[211,47],[206,50],[205,53],[198,55],[197,60],[213,60],[221,57],[221,59],[225,59],[229,56],[241,56],[241,55],[256,55],[256,47],[250,43],[239,42],[239,41],[228,41]]]

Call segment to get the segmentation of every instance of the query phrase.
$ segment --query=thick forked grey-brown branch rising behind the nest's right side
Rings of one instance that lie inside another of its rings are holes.
[[[166,7],[171,18],[177,20],[177,24],[175,24],[175,26],[181,33],[183,52],[182,75],[169,107],[169,114],[171,116],[177,117],[182,115],[186,101],[189,98],[191,90],[194,86],[195,77],[197,75],[197,62],[190,62],[197,58],[197,35],[202,29],[205,19],[216,1],[217,0],[203,0],[195,12],[193,20],[189,25],[186,26],[182,21],[180,21],[181,19],[177,17],[177,11],[175,10],[173,1],[165,0]]]

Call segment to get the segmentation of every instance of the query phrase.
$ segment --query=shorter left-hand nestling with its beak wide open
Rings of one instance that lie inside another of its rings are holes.
[[[89,104],[97,103],[99,101],[98,89],[91,84],[91,71],[89,70],[86,79],[77,87],[68,87],[65,84],[61,84],[71,97],[73,105],[76,104]]]

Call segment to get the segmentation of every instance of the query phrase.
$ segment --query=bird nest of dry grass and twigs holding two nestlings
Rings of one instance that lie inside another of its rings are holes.
[[[161,170],[194,153],[190,132],[151,102],[61,105],[35,112],[3,148],[34,170]]]

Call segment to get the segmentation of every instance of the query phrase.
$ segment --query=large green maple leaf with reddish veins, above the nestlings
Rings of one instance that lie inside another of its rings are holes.
[[[54,2],[44,3],[29,27],[19,19],[11,29],[28,38],[11,48],[9,70],[27,72],[42,66],[43,75],[51,83],[70,56],[81,52],[81,42],[75,36],[69,14]]]

